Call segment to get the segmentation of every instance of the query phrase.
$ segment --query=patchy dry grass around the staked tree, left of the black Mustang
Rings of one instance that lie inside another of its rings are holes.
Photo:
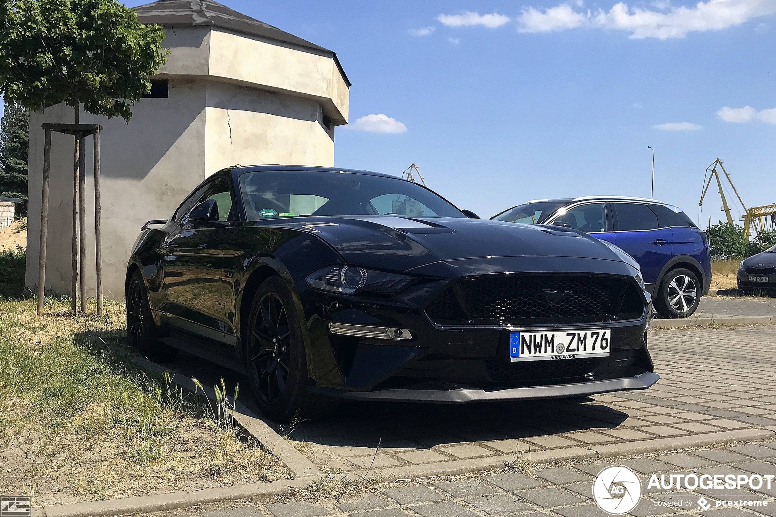
[[[123,306],[68,306],[47,299],[38,318],[34,300],[0,300],[0,493],[52,504],[291,475],[234,428],[227,397],[203,406],[113,353]]]

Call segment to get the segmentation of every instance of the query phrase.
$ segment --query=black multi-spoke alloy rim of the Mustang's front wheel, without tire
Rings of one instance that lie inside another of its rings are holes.
[[[275,404],[286,389],[291,364],[288,314],[275,293],[265,293],[258,300],[251,338],[254,342],[251,363],[258,378],[258,396],[266,404]]]

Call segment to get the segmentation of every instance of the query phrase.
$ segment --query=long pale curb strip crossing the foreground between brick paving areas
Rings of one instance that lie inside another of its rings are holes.
[[[530,460],[533,463],[550,463],[560,460],[591,460],[595,458],[613,458],[628,456],[635,453],[670,452],[713,445],[717,442],[753,441],[773,438],[776,429],[736,429],[735,431],[707,432],[698,435],[684,436],[682,438],[659,438],[644,440],[643,442],[612,443],[608,445],[592,446],[590,448],[570,447],[569,449],[554,449],[531,453]],[[296,450],[296,449],[294,449]],[[297,451],[298,452],[298,451]],[[525,451],[524,451],[525,453]],[[404,467],[391,467],[388,469],[372,470],[373,473],[382,474],[386,481],[398,481],[417,477],[433,477],[453,474],[465,474],[472,470],[486,470],[490,467],[502,467],[504,462],[514,459],[511,454],[504,456],[490,456],[487,458],[475,458],[473,460],[456,460],[443,464],[428,463],[425,465],[411,465]],[[351,480],[357,480],[369,474],[369,470],[360,470],[342,474]],[[90,517],[127,515],[139,512],[161,512],[178,508],[190,508],[203,503],[240,500],[259,496],[279,495],[293,489],[303,489],[310,484],[321,481],[324,474],[314,474],[293,480],[272,481],[271,483],[253,483],[225,488],[206,488],[199,491],[172,492],[170,494],[141,495],[112,501],[93,501],[72,503],[69,505],[57,505],[47,508],[35,508],[36,515],[44,517]]]

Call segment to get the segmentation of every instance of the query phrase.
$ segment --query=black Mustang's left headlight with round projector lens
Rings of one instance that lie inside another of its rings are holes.
[[[411,276],[365,269],[355,265],[328,265],[307,277],[307,285],[330,293],[399,293],[413,283]]]

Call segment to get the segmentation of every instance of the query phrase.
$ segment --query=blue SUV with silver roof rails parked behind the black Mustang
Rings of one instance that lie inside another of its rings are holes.
[[[667,203],[619,196],[534,200],[491,219],[573,228],[622,248],[641,265],[646,288],[662,317],[693,314],[711,284],[712,259],[705,232]]]

